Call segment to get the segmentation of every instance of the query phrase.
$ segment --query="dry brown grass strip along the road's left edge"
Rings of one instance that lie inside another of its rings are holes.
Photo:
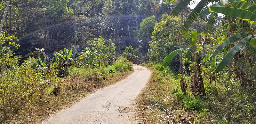
[[[58,111],[68,108],[69,106],[73,105],[74,103],[78,102],[79,100],[85,98],[88,94],[93,93],[101,88],[107,87],[109,85],[115,84],[126,77],[132,74],[132,71],[114,73],[106,77],[101,83],[92,83],[84,82],[83,78],[77,78],[77,90],[68,90],[68,89],[61,89],[60,94],[52,95],[52,94],[44,94],[42,97],[41,102],[34,103],[34,109],[29,110],[32,113],[31,115],[27,116],[27,119],[23,122],[18,122],[13,120],[13,122],[18,123],[41,123],[46,118],[53,116]],[[62,85],[68,84],[70,85],[69,78],[64,79]],[[44,101],[44,102],[42,102]]]

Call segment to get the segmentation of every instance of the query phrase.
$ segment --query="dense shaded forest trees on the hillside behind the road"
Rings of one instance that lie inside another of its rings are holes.
[[[7,1],[0,2],[1,17]],[[161,0],[11,0],[10,5],[3,31],[20,39],[15,53],[21,56],[35,47],[45,48],[48,54],[64,47],[80,51],[85,41],[99,36],[112,39],[117,53],[132,45],[142,46],[140,52],[145,55],[150,37],[138,37],[140,23],[147,17],[160,20],[173,8]]]

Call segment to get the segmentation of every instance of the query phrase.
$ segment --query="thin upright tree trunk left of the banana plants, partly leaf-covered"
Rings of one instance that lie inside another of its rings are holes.
[[[183,26],[183,11],[181,12],[181,15],[180,15],[180,19],[181,19],[181,24],[180,24],[180,28],[182,28]],[[180,42],[180,48],[182,48],[182,34],[179,33],[179,42]],[[182,69],[182,53],[180,54],[180,74],[183,75],[183,69]],[[181,91],[182,92],[186,92],[186,85],[185,85],[185,82],[180,79],[180,88],[181,88]]]

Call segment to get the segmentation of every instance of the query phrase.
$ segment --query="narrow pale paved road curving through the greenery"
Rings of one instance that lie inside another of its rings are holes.
[[[133,124],[132,102],[147,83],[150,71],[133,65],[132,75],[114,85],[90,94],[44,124]]]

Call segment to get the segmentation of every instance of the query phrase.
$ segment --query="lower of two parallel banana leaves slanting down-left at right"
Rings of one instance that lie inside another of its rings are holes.
[[[234,46],[227,55],[225,55],[225,57],[222,59],[222,61],[218,64],[217,68],[215,69],[216,71],[221,71],[222,69],[224,69],[228,63],[233,59],[233,57],[235,56],[236,52],[240,51],[241,48],[245,45],[246,42],[249,43],[249,40],[251,39],[252,35],[249,35],[247,37],[245,37],[243,40],[241,40],[240,42],[238,42],[236,44],[236,46]]]

